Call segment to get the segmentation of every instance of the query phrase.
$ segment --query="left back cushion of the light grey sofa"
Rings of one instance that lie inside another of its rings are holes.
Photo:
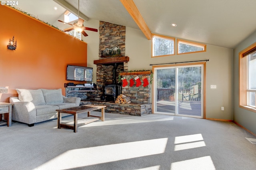
[[[44,95],[41,89],[16,89],[20,101],[31,101],[34,105],[45,105]]]

